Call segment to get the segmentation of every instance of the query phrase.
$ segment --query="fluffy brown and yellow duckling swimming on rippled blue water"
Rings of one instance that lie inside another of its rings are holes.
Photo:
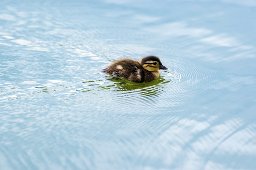
[[[159,69],[168,69],[163,66],[156,56],[147,56],[136,61],[133,59],[121,59],[103,69],[104,73],[120,76],[135,83],[146,83],[160,76]]]

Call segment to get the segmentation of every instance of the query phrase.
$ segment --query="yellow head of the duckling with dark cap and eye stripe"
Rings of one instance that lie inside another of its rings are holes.
[[[160,59],[156,56],[147,56],[141,59],[141,66],[148,71],[159,71],[159,69],[168,69],[163,66]]]

